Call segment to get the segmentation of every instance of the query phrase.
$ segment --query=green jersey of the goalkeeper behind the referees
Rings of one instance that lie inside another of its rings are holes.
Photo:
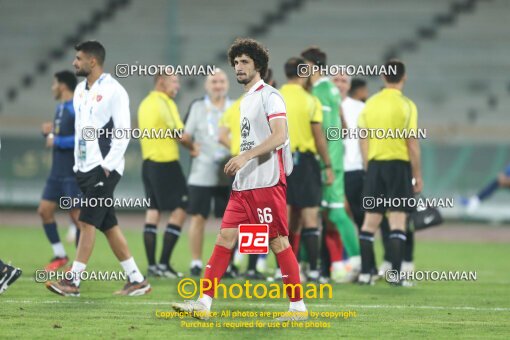
[[[342,171],[344,168],[344,146],[340,138],[340,129],[342,128],[340,103],[342,97],[335,84],[327,77],[320,78],[313,84],[312,94],[319,98],[322,104],[322,129],[328,143],[331,167],[334,171]],[[330,130],[328,133],[328,128],[333,128],[336,131]],[[324,167],[322,160],[321,166]]]

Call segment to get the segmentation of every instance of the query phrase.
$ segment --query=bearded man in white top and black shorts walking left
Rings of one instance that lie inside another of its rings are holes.
[[[78,185],[86,201],[105,202],[113,199],[115,186],[124,171],[124,153],[129,144],[129,136],[121,138],[104,131],[129,129],[129,97],[124,88],[113,77],[103,72],[105,49],[97,41],[86,41],[76,45],[73,66],[76,75],[86,77],[74,92],[75,148],[74,171]],[[98,133],[99,132],[99,133]],[[87,266],[92,254],[96,230],[102,231],[115,256],[128,275],[128,283],[115,292],[118,295],[143,295],[151,290],[150,284],[138,269],[131,256],[126,239],[117,224],[115,209],[99,204],[81,207],[79,220],[82,223],[76,260],[71,272],[72,280],[46,282],[46,287],[63,296],[80,295],[80,273]]]

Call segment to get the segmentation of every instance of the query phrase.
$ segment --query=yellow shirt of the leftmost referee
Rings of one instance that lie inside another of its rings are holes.
[[[140,129],[183,129],[175,102],[165,93],[152,91],[138,108]],[[153,162],[172,162],[179,159],[179,145],[174,138],[141,138],[142,158]]]

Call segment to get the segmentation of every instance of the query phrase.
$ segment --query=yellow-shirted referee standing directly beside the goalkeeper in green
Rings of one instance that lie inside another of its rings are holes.
[[[309,235],[318,237],[320,234],[318,215],[322,182],[318,155],[326,165],[326,185],[333,183],[334,175],[321,126],[321,103],[304,89],[308,78],[298,74],[298,66],[304,63],[302,58],[287,60],[284,66],[287,83],[280,89],[287,107],[290,148],[294,162],[294,170],[287,179],[287,210],[290,242],[294,253],[298,254],[302,237],[310,264],[306,273],[307,279],[317,281],[319,245],[317,239]]]

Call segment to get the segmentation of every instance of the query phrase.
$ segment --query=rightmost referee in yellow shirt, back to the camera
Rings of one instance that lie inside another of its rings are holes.
[[[358,119],[358,126],[364,129],[416,130],[418,113],[416,105],[402,94],[407,79],[405,66],[401,61],[391,60],[386,69],[396,72],[383,76],[385,84],[366,103]],[[363,195],[374,200],[401,200],[398,206],[374,205],[365,207],[365,219],[359,235],[361,245],[361,274],[358,282],[371,284],[371,270],[374,267],[374,233],[379,228],[386,212],[390,225],[389,250],[392,269],[397,272],[395,285],[408,285],[400,280],[403,249],[406,242],[406,217],[413,210],[405,204],[423,187],[420,164],[420,144],[416,138],[375,138],[369,135],[360,139],[364,168],[366,169]],[[414,180],[414,184],[413,184]],[[414,193],[413,193],[414,191]],[[374,201],[375,202],[375,201]]]

